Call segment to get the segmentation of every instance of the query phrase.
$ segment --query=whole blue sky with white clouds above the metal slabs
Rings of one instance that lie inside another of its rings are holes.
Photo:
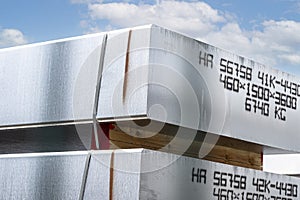
[[[300,75],[300,1],[1,0],[0,47],[154,23]]]

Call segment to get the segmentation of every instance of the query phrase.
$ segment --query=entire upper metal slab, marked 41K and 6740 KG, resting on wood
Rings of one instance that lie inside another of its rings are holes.
[[[148,119],[300,151],[299,78],[154,25],[3,49],[0,71],[2,129]]]

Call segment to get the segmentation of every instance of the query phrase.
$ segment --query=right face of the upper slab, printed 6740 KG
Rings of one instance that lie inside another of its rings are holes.
[[[150,119],[300,151],[299,78],[164,28],[150,46]]]

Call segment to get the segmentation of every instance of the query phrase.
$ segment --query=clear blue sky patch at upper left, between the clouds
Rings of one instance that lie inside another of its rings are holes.
[[[22,31],[29,42],[80,35],[80,9],[69,0],[1,0],[0,27]]]

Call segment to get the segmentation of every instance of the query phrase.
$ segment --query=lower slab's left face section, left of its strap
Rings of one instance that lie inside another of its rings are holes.
[[[87,153],[0,157],[1,199],[79,199]]]

